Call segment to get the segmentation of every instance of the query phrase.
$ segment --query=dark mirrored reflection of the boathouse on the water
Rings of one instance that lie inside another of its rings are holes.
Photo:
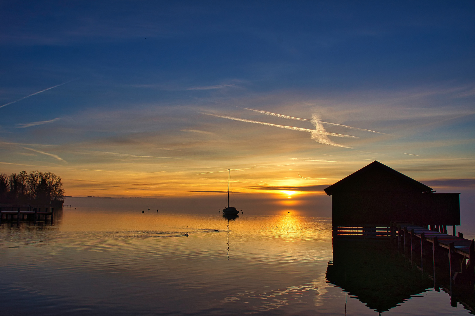
[[[390,250],[390,241],[333,239],[326,279],[382,313],[433,287],[427,276]]]

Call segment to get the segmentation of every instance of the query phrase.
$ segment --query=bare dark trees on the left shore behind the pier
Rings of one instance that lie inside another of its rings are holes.
[[[49,204],[63,197],[63,182],[54,173],[36,170],[7,175],[0,172],[0,203]]]

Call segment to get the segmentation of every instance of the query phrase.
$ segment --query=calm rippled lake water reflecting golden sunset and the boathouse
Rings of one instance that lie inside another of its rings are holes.
[[[1,315],[469,313],[401,256],[353,250],[332,263],[329,218],[65,209],[1,223]]]

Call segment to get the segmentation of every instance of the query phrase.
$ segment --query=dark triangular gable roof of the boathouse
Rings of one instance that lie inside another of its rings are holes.
[[[429,192],[432,188],[374,161],[324,189],[327,195],[339,192]]]

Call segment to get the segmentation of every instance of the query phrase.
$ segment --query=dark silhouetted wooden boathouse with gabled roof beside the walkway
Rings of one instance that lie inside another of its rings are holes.
[[[460,193],[435,193],[377,161],[324,191],[332,196],[333,232],[339,235],[384,228],[389,235],[391,223],[430,225],[442,232],[453,226],[454,233],[460,225]]]

